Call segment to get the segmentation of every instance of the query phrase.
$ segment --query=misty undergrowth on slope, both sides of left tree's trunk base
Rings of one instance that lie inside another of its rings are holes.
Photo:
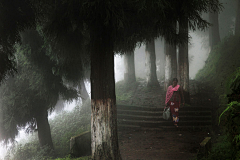
[[[11,160],[53,160],[54,157],[59,157],[57,160],[70,160],[70,156],[67,156],[70,152],[70,138],[90,130],[90,100],[86,101],[81,108],[76,106],[72,111],[63,111],[54,119],[49,120],[49,123],[55,148],[54,154],[49,155],[46,147],[40,148],[37,134],[33,134],[28,138],[29,142],[24,145],[18,144],[11,149],[13,157]],[[87,160],[88,158],[81,157],[75,160]]]

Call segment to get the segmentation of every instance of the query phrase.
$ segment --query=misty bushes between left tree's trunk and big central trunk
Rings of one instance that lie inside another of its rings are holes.
[[[63,111],[53,120],[50,120],[53,144],[58,157],[69,153],[70,138],[90,130],[91,106],[88,100],[81,109],[76,107],[73,111]]]

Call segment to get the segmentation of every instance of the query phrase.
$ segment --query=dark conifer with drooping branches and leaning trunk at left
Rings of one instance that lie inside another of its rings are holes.
[[[27,132],[37,129],[41,147],[53,149],[48,111],[54,109],[60,95],[64,100],[78,95],[63,85],[59,75],[53,74],[55,64],[46,55],[47,49],[38,33],[27,31],[22,39],[16,53],[18,74],[9,77],[1,87],[0,138],[13,141],[19,127],[27,126]]]

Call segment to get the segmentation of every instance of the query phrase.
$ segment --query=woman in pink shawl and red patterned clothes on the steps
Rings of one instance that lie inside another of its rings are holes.
[[[173,78],[172,85],[169,86],[167,89],[166,101],[165,101],[166,107],[170,107],[173,124],[176,127],[178,127],[178,125],[177,125],[177,123],[179,121],[178,111],[179,111],[179,107],[181,104],[181,99],[183,102],[183,106],[185,103],[184,96],[183,96],[183,89],[177,83],[178,83],[178,79]]]

